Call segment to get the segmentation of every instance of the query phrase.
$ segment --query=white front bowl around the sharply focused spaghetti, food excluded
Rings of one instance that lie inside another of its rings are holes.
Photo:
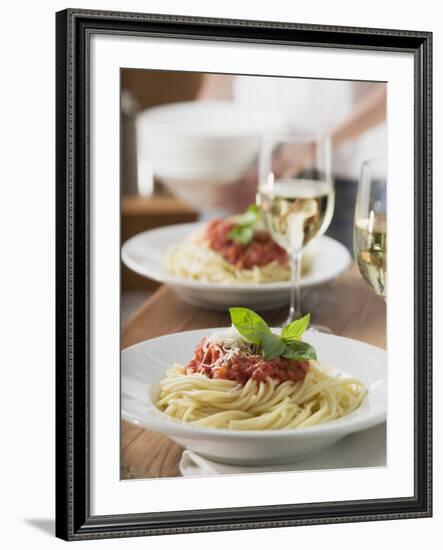
[[[122,352],[122,416],[138,426],[162,433],[186,449],[225,464],[289,464],[318,455],[349,434],[386,419],[386,353],[380,348],[340,336],[308,331],[319,361],[338,373],[360,379],[368,393],[353,413],[303,429],[235,431],[200,428],[171,419],[154,404],[159,382],[174,363],[186,364],[204,329],[146,340]]]

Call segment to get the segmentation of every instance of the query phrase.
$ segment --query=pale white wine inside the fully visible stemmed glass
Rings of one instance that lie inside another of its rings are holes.
[[[273,239],[297,252],[328,228],[334,212],[334,187],[325,181],[277,180],[261,191],[261,208]]]

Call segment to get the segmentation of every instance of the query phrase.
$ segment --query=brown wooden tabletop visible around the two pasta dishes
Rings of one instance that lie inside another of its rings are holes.
[[[352,266],[341,277],[302,292],[304,311],[311,321],[331,328],[335,334],[386,347],[386,310]],[[283,322],[286,308],[263,312],[270,325]],[[226,312],[206,311],[182,301],[163,286],[123,325],[122,349],[163,334],[205,327],[229,326]],[[121,429],[122,479],[180,475],[183,449],[167,437],[127,422]]]

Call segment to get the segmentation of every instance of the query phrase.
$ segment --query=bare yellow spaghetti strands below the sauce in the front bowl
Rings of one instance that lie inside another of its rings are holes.
[[[315,361],[299,382],[250,378],[244,386],[174,365],[160,382],[156,405],[175,420],[205,428],[303,429],[352,413],[366,393],[359,380],[332,376]]]

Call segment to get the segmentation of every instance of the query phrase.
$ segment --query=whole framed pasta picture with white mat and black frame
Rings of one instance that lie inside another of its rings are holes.
[[[56,17],[57,536],[430,516],[431,33]]]

